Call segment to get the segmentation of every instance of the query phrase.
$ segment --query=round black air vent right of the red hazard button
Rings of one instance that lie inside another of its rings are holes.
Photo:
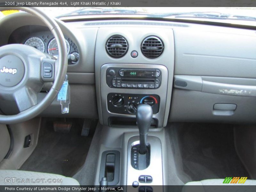
[[[144,56],[154,59],[159,57],[164,50],[164,44],[156,36],[146,37],[141,43],[141,52]]]

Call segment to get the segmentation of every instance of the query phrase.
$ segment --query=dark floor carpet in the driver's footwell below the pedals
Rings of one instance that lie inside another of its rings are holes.
[[[69,133],[54,132],[53,121],[58,119],[42,120],[37,147],[20,170],[72,177],[85,162],[97,122],[92,122],[89,136],[83,137],[83,119],[67,119],[73,123]]]

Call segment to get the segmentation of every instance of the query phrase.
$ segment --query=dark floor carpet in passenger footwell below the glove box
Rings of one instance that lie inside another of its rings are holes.
[[[177,123],[168,132],[171,140],[176,137],[180,167],[192,181],[250,177],[234,147],[233,125]]]

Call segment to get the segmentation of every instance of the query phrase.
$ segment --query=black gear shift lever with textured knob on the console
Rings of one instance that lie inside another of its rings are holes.
[[[152,121],[153,111],[150,105],[140,104],[136,111],[136,120],[140,132],[140,154],[147,152],[147,136]]]

